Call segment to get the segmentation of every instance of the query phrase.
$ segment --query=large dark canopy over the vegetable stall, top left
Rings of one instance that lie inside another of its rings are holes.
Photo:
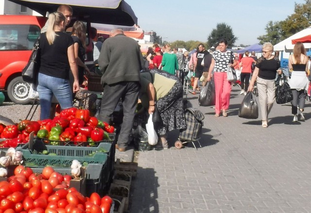
[[[60,4],[68,4],[74,16],[83,16],[92,23],[133,26],[137,17],[124,0],[9,0],[28,7],[42,16],[55,12]]]

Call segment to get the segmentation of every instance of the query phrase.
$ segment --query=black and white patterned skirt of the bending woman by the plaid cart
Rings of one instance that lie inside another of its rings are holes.
[[[156,127],[159,135],[164,135],[174,129],[186,129],[181,82],[176,82],[166,96],[159,98],[156,107],[162,118],[162,123]]]

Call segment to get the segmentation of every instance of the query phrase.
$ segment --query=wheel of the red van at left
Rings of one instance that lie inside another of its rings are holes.
[[[19,76],[12,81],[8,85],[8,97],[12,102],[16,104],[28,104],[31,102],[31,98],[28,98],[28,93],[30,89],[30,84],[24,82],[22,77]]]

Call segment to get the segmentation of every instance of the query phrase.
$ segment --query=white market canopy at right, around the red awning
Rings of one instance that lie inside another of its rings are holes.
[[[311,27],[308,27],[288,38],[286,38],[285,40],[277,43],[276,45],[274,45],[274,50],[275,51],[285,51],[285,52],[292,52],[294,49],[294,44],[292,43],[292,40],[294,39],[298,39],[307,35],[311,34]],[[311,48],[311,44],[304,44],[306,49]]]

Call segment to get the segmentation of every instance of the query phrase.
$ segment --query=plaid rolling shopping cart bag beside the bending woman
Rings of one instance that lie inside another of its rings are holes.
[[[188,108],[185,111],[186,129],[179,131],[179,138],[182,140],[196,140],[202,133],[203,113],[195,108]]]

